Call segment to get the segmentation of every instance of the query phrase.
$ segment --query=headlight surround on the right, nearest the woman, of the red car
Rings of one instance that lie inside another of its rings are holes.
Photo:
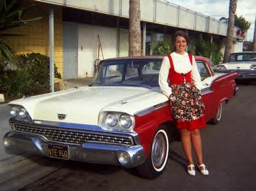
[[[116,115],[117,117],[117,123],[115,124],[115,126],[110,126],[108,125],[108,123],[106,122],[106,116],[108,116],[110,113],[113,113]],[[128,126],[124,126],[121,124],[121,120],[120,120],[120,117],[121,116],[126,116],[126,117],[130,117],[130,123],[129,124],[129,127]],[[102,128],[102,129],[105,129],[105,130],[123,130],[123,131],[133,131],[134,129],[134,126],[135,126],[135,119],[134,119],[134,116],[133,115],[130,115],[128,113],[124,113],[124,112],[115,112],[115,111],[104,111],[102,113],[100,113],[100,116],[99,116],[99,126]]]

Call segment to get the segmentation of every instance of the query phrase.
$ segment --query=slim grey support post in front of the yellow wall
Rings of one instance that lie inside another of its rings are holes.
[[[54,10],[49,10],[50,90],[54,92]]]

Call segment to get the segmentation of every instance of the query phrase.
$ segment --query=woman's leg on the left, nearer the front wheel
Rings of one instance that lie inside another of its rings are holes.
[[[191,151],[191,138],[189,130],[181,129],[181,145],[187,157],[188,164],[194,164]]]

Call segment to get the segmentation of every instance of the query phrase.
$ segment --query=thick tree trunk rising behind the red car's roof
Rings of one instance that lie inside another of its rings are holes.
[[[140,0],[129,4],[129,56],[141,56]]]

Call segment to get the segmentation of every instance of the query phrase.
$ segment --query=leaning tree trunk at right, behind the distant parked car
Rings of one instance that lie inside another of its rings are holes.
[[[228,62],[228,58],[233,49],[233,35],[234,35],[234,15],[237,10],[238,0],[229,0],[229,18],[228,18],[228,28],[227,28],[227,41],[224,53],[223,63]]]

